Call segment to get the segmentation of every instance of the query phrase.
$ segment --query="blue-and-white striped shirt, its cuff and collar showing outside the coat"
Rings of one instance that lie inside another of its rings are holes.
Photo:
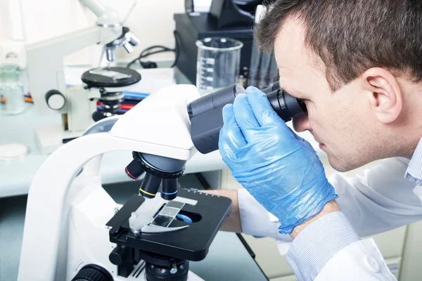
[[[422,185],[422,138],[404,178]],[[338,251],[359,240],[345,215],[335,211],[302,230],[293,240],[286,259],[298,280],[314,280]]]

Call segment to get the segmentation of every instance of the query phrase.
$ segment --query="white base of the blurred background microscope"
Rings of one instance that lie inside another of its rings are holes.
[[[35,141],[41,154],[51,154],[66,141],[79,138],[83,133],[84,131],[64,131],[61,124],[42,126],[35,128]]]

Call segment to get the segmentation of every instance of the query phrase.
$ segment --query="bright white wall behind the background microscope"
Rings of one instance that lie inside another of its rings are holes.
[[[8,39],[9,21],[8,2],[18,0],[0,0],[0,39]],[[110,6],[123,19],[131,10],[134,0],[100,0],[105,6]],[[51,39],[61,34],[81,30],[94,25],[95,16],[85,8],[79,0],[20,0],[23,16],[23,33],[28,44]],[[139,0],[132,9],[125,25],[141,41],[134,52],[127,54],[121,48],[117,54],[118,60],[131,60],[139,52],[151,45],[174,47],[174,13],[184,12],[184,0]],[[6,37],[6,38],[5,38]],[[84,65],[89,63],[90,51],[94,48],[85,48],[82,51],[65,58],[68,65]],[[95,48],[98,52],[98,48]],[[97,53],[98,55],[98,53]],[[172,59],[173,53],[162,53],[155,59]]]

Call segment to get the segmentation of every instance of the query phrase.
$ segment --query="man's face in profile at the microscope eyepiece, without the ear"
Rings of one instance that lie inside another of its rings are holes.
[[[383,155],[376,138],[381,126],[359,79],[331,93],[321,59],[304,46],[304,29],[287,20],[274,44],[280,86],[305,100],[307,115],[293,119],[295,131],[308,130],[334,169],[355,169]],[[385,137],[385,136],[384,136]]]

